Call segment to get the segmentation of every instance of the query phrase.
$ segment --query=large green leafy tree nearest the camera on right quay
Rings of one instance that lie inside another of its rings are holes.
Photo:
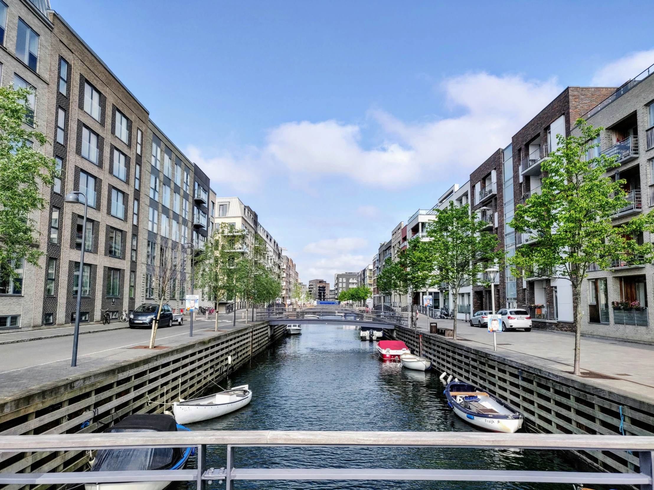
[[[581,286],[591,264],[610,269],[611,261],[651,263],[651,243],[634,240],[643,231],[654,232],[654,214],[641,214],[626,223],[614,223],[629,206],[625,180],[606,172],[619,164],[594,150],[603,129],[577,120],[581,136],[558,135],[559,148],[541,163],[542,193],[515,208],[509,226],[516,233],[536,238],[516,249],[512,274],[525,277],[566,278],[572,285],[575,325],[574,374],[581,373]]]

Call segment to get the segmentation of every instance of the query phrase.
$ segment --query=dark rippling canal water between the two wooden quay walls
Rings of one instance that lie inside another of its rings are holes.
[[[455,416],[438,372],[382,363],[376,342],[354,329],[304,325],[230,375],[223,387],[249,384],[252,402],[204,430],[476,431]],[[402,442],[398,440],[398,442]],[[460,468],[574,470],[560,451],[432,448],[237,448],[241,468]],[[225,466],[225,447],[207,466]],[[235,482],[237,489],[566,489],[572,485],[485,482]],[[190,488],[190,487],[189,487]],[[220,488],[215,482],[208,487]]]

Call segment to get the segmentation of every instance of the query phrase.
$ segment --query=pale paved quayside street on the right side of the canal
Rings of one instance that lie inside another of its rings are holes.
[[[428,321],[439,327],[452,327],[452,320],[428,319],[419,316],[419,329],[428,331]],[[492,334],[486,329],[457,322],[459,342],[477,349],[492,351]],[[534,329],[497,334],[498,353],[547,370],[572,372],[574,334]],[[654,402],[654,346],[621,342],[604,338],[581,337],[581,369],[617,378],[615,380],[584,378],[585,382],[623,392]]]

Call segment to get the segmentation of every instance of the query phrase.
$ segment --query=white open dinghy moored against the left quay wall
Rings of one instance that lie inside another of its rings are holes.
[[[208,397],[179,400],[173,403],[177,423],[194,423],[229,414],[249,404],[252,391],[248,385],[237,386]]]

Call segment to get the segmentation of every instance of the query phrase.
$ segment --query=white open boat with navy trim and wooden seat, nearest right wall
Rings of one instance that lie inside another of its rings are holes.
[[[474,385],[455,379],[447,384],[445,396],[455,414],[475,427],[514,433],[523,426],[523,416],[519,412]]]

